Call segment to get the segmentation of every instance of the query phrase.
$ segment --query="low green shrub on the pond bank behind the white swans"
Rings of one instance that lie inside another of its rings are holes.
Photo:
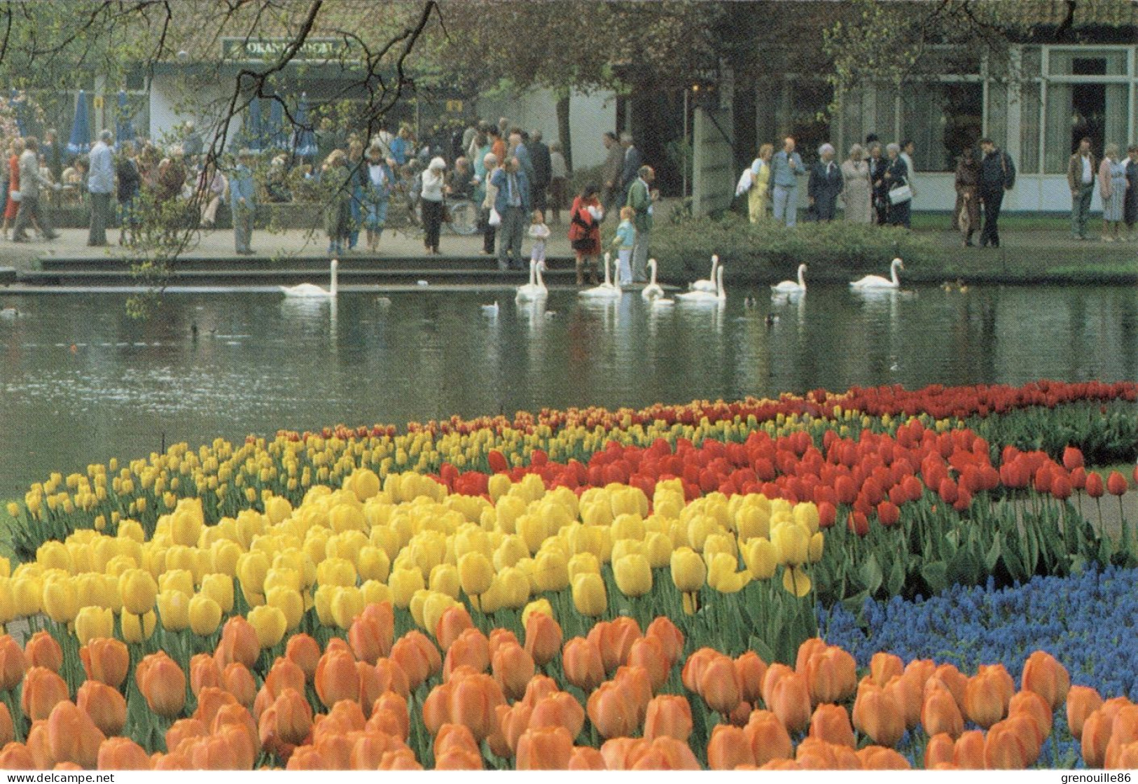
[[[666,280],[704,277],[711,254],[719,255],[724,275],[733,280],[793,278],[803,262],[815,280],[844,280],[853,272],[883,274],[893,256],[904,258],[908,269],[920,269],[937,261],[937,246],[893,226],[835,222],[787,229],[774,221],[752,225],[734,213],[683,217],[653,228],[652,255]]]

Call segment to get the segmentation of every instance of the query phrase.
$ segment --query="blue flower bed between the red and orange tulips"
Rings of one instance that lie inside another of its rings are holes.
[[[860,622],[840,604],[819,608],[818,630],[852,653],[859,667],[888,651],[905,661],[953,663],[966,675],[980,665],[1003,663],[1017,684],[1026,658],[1047,651],[1067,668],[1072,684],[1138,699],[1138,569],[1088,569],[1001,589],[989,578],[987,587],[954,587],[930,599],[867,600]],[[899,750],[920,765],[923,750],[905,745]],[[1040,762],[1082,766],[1062,709]]]

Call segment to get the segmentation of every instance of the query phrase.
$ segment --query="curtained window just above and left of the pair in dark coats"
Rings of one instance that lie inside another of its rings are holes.
[[[954,171],[957,157],[980,139],[982,116],[983,85],[979,82],[907,84],[901,91],[901,137],[916,142],[913,163],[917,171]]]

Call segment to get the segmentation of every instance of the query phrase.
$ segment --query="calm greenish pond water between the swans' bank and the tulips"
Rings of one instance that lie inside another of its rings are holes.
[[[481,305],[495,298],[489,316]],[[1138,292],[1116,287],[866,297],[819,286],[797,302],[733,291],[721,306],[670,308],[633,294],[586,304],[553,292],[544,307],[504,291],[336,304],[170,294],[148,321],[126,314],[125,295],[0,305],[20,311],[0,319],[0,498],[50,471],[280,428],[853,385],[1138,378]]]

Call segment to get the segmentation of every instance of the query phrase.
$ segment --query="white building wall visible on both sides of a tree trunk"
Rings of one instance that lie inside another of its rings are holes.
[[[538,130],[546,145],[558,140],[556,98],[549,90],[531,90],[521,96],[480,99],[478,116],[496,123],[509,117],[512,125],[527,131]],[[611,92],[588,96],[575,92],[569,97],[569,130],[572,134],[572,162],[576,168],[600,166],[605,149],[601,134],[616,131],[617,97]]]

